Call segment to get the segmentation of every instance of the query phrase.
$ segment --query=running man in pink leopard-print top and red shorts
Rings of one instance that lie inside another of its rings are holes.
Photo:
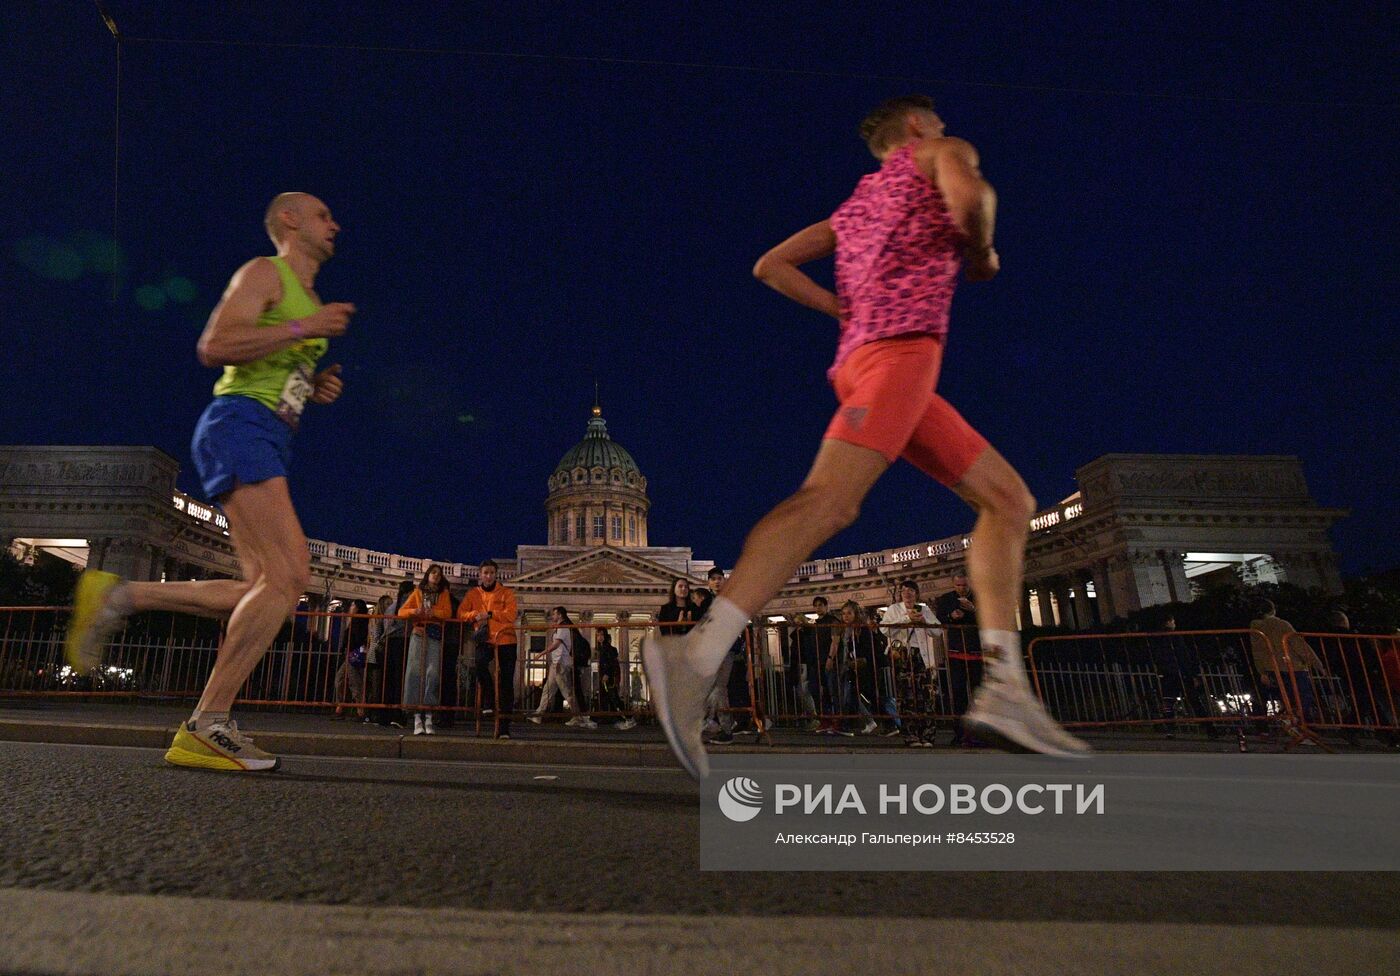
[[[848,527],[886,468],[904,458],[952,487],[977,513],[967,576],[980,595],[986,679],[965,717],[981,738],[1016,749],[1082,755],[1030,692],[1016,632],[1035,499],[987,441],[935,392],[958,270],[997,274],[997,197],[977,150],[944,136],[924,95],[893,98],[867,116],[861,136],[881,161],[851,197],[798,231],[755,266],[762,281],[837,319],[829,372],[840,405],[806,480],[743,543],[724,594],[687,634],[648,637],[643,662],[657,717],[680,765],[708,773],[700,724],[725,654],[812,552]],[[801,265],[836,253],[836,291]]]

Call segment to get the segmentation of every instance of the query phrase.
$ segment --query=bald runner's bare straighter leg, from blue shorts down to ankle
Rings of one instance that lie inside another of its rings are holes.
[[[266,653],[311,576],[307,536],[291,506],[286,477],[239,484],[224,501],[230,534],[238,542],[248,591],[234,608],[200,711],[228,711],[238,689]]]

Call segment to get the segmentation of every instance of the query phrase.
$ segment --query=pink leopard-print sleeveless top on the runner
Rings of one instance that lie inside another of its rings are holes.
[[[904,146],[861,178],[832,214],[841,339],[834,375],[857,347],[893,336],[942,336],[962,267],[963,232],[937,183]]]

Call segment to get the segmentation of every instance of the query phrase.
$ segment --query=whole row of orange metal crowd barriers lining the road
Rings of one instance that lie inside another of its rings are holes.
[[[67,608],[0,608],[0,695],[193,700],[223,636],[216,620],[134,615],[113,636],[102,667],[78,675],[63,661],[67,616]],[[379,723],[421,711],[448,723],[470,720],[479,732],[489,727],[496,734],[512,717],[556,721],[581,713],[619,724],[645,718],[650,699],[637,644],[666,627],[574,627],[589,640],[591,660],[563,682],[570,693],[556,697],[552,689],[540,709],[549,626],[517,625],[517,653],[507,660],[504,646],[477,648],[466,620],[297,612],[248,676],[238,703],[332,709]],[[616,655],[606,661],[599,654],[602,632],[619,633]],[[378,637],[371,640],[371,633]],[[363,662],[358,647],[365,647]],[[1275,648],[1261,632],[1243,629],[1057,634],[1032,640],[1026,658],[1036,693],[1075,728],[1140,727],[1173,735],[1196,727],[1210,737],[1274,728],[1295,739],[1316,731],[1368,731],[1400,742],[1396,636],[1291,634]],[[435,704],[405,702],[406,685],[430,689],[434,679]],[[958,735],[958,718],[980,679],[973,627],[750,625],[717,675],[708,728],[767,737],[774,725],[787,725],[931,742],[941,728]],[[504,707],[497,704],[501,696],[508,699]]]

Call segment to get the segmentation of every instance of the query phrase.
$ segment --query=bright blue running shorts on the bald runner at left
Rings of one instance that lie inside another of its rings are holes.
[[[291,427],[251,396],[216,396],[189,447],[209,501],[235,484],[286,477],[291,468]]]

